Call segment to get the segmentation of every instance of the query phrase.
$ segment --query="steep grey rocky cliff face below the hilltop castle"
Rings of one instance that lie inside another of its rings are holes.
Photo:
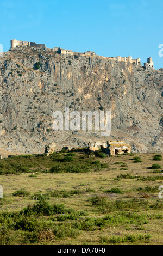
[[[0,147],[43,153],[45,145],[122,140],[132,150],[163,150],[163,72],[99,56],[61,56],[16,47],[0,58]],[[54,131],[52,113],[111,110],[111,135]]]

